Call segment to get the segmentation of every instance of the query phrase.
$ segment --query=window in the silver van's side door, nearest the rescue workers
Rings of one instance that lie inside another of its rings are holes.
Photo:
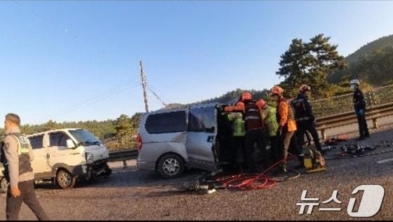
[[[215,108],[191,109],[188,116],[188,131],[215,132]]]

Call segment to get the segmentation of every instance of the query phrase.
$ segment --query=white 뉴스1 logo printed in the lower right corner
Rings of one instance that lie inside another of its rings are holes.
[[[383,198],[385,197],[385,189],[380,185],[362,185],[358,186],[352,192],[352,195],[356,195],[359,191],[364,191],[363,197],[359,204],[359,210],[354,212],[355,203],[357,202],[356,198],[350,198],[349,204],[347,207],[347,214],[356,218],[369,218],[378,214],[382,207]],[[333,195],[328,200],[322,202],[322,204],[329,204],[331,202],[335,202],[336,204],[342,204],[340,200],[338,200],[338,190],[333,191]],[[311,215],[312,211],[314,211],[314,207],[319,207],[319,198],[307,198],[307,190],[303,190],[302,195],[300,197],[301,203],[296,204],[296,206],[300,207],[299,214],[305,214],[306,207],[307,214]],[[342,211],[341,208],[319,208],[319,211]]]

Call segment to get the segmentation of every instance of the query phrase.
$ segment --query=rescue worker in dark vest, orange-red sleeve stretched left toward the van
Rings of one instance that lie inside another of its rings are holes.
[[[227,106],[224,110],[226,112],[240,111],[244,113],[244,121],[246,123],[246,137],[244,139],[244,145],[246,150],[248,172],[256,172],[258,167],[255,165],[253,155],[255,143],[258,145],[260,151],[262,151],[263,167],[267,167],[269,164],[269,157],[266,150],[265,132],[263,130],[260,109],[258,108],[255,100],[253,100],[251,93],[245,92],[241,96],[241,102],[244,103],[244,106]]]

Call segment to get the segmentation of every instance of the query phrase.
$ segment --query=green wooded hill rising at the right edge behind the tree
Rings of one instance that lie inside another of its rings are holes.
[[[348,69],[328,75],[329,83],[340,83],[342,78],[359,78],[373,86],[393,83],[393,35],[367,43],[345,60]]]

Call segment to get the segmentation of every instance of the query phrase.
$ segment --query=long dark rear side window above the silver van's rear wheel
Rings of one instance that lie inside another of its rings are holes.
[[[185,132],[187,130],[185,111],[152,114],[147,117],[145,128],[149,134]]]

